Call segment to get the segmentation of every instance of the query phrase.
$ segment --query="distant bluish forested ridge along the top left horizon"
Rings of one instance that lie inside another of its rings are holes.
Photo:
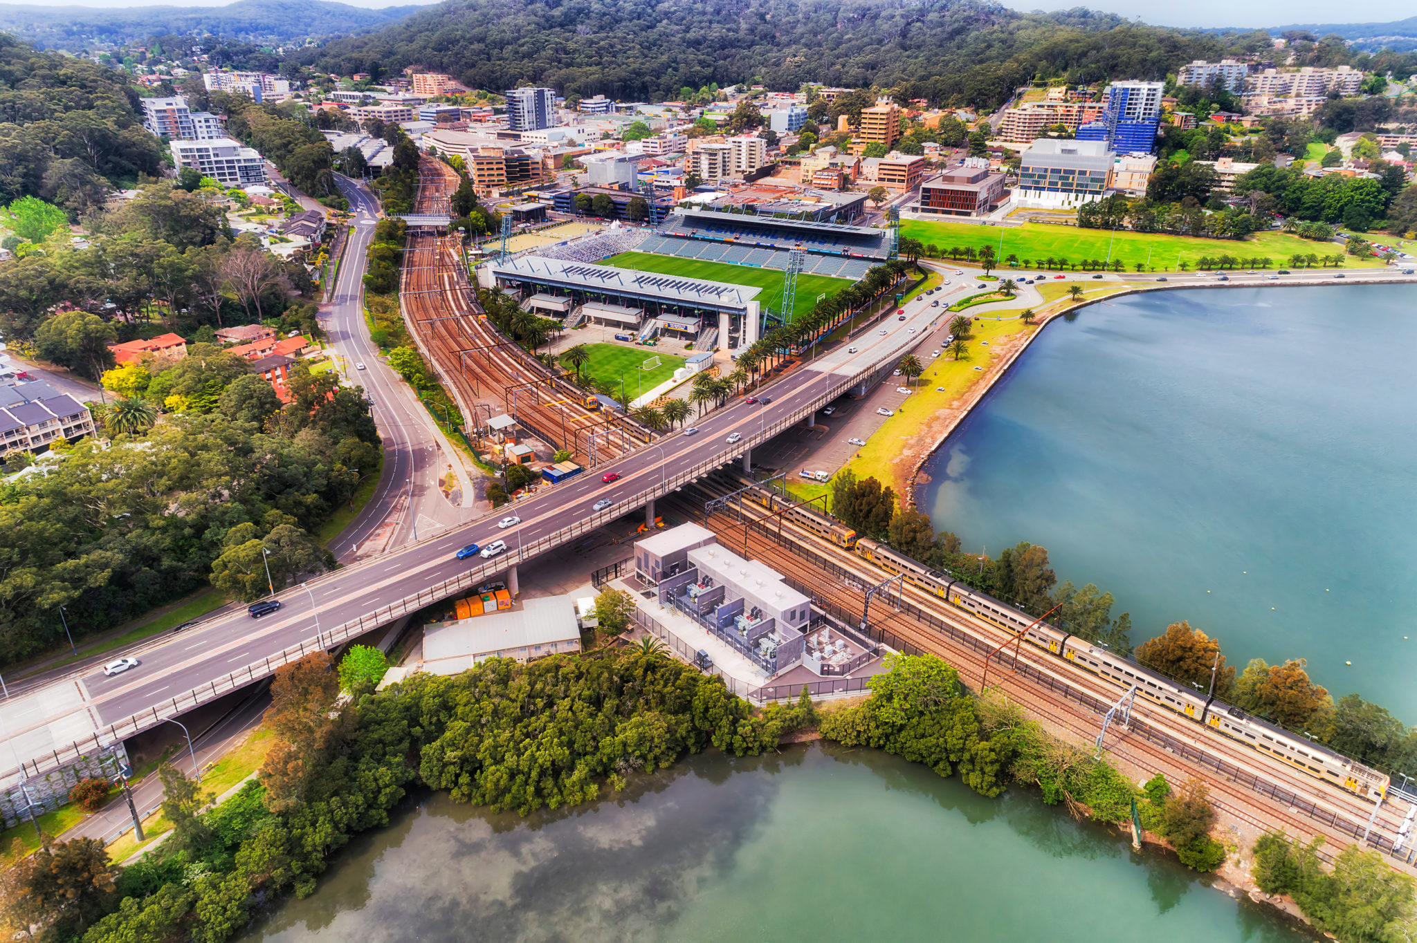
[[[404,18],[418,7],[368,10],[327,0],[238,0],[224,7],[44,7],[0,4],[0,30],[54,48],[91,38],[139,42],[166,33],[242,40],[347,35]]]

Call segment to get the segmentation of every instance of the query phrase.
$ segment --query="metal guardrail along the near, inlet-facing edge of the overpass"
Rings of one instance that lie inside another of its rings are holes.
[[[47,770],[61,767],[65,763],[79,759],[92,750],[102,749],[106,745],[113,743],[119,739],[126,739],[129,736],[140,733],[142,731],[146,731],[152,726],[166,722],[169,718],[184,714],[186,711],[190,711],[196,707],[214,701],[238,688],[242,688],[248,684],[266,678],[275,674],[278,668],[290,664],[292,661],[298,661],[310,653],[333,648],[334,646],[343,641],[349,641],[350,639],[359,637],[367,631],[373,631],[374,629],[388,622],[393,622],[394,619],[407,616],[412,612],[422,609],[424,606],[429,606],[435,602],[446,599],[448,596],[456,592],[487,582],[487,579],[490,579],[493,575],[499,572],[503,572],[517,564],[521,564],[523,561],[531,559],[533,556],[537,556],[538,554],[543,554],[548,549],[560,547],[561,544],[565,544],[567,541],[580,537],[581,534],[597,530],[602,524],[608,524],[609,521],[623,517],[629,511],[633,511],[635,508],[645,505],[648,501],[665,497],[674,488],[682,487],[683,484],[701,477],[707,471],[716,467],[721,467],[728,462],[733,462],[734,459],[740,457],[744,452],[752,449],[757,445],[768,442],[769,439],[779,435],[785,429],[796,425],[798,422],[801,422],[803,416],[815,413],[818,409],[832,402],[852,387],[860,384],[864,378],[874,374],[876,370],[879,370],[879,367],[873,365],[871,368],[860,371],[847,379],[840,379],[829,385],[823,392],[812,396],[805,405],[802,405],[798,409],[794,409],[791,413],[771,423],[764,423],[758,430],[745,432],[744,438],[740,442],[727,446],[724,449],[720,449],[711,457],[696,463],[690,469],[679,471],[673,476],[663,476],[657,483],[650,484],[649,487],[646,487],[645,490],[639,491],[632,497],[626,497],[621,501],[616,501],[604,511],[598,511],[595,514],[591,514],[588,518],[574,521],[568,527],[564,527],[553,534],[540,537],[531,541],[530,544],[524,545],[519,544],[516,549],[512,549],[509,547],[506,554],[496,556],[492,561],[476,566],[475,569],[463,572],[452,579],[445,579],[434,586],[429,586],[417,593],[405,596],[404,599],[400,599],[395,603],[383,606],[374,610],[373,613],[360,616],[359,619],[353,619],[340,626],[336,626],[334,629],[317,631],[315,633],[315,636],[305,639],[293,646],[289,646],[273,656],[269,656],[261,661],[251,663],[244,668],[237,668],[235,671],[231,671],[230,674],[221,678],[215,678],[207,684],[190,688],[188,691],[179,694],[173,698],[169,698],[159,705],[147,708],[146,711],[130,714],[129,716],[115,721],[109,724],[106,728],[96,731],[91,736],[84,738],[82,741],[75,741],[62,749],[50,750],[48,756],[21,760],[18,769],[11,767],[6,770],[3,776],[0,776],[0,789],[13,787],[21,776],[23,777],[40,776]],[[662,443],[650,443],[636,450],[632,455],[642,455],[648,450],[662,449],[662,447],[663,447]],[[489,513],[486,517],[478,520],[479,521],[487,520],[495,514],[496,511]],[[424,538],[422,541],[418,541],[418,544],[425,544],[432,539],[439,539],[441,537],[442,532],[439,532],[438,535]],[[415,544],[415,547],[418,544]],[[381,556],[378,559],[385,559],[385,558]],[[347,573],[347,572],[349,571],[333,571],[330,573],[326,573],[324,576],[317,578],[316,581],[309,581],[309,582],[319,585],[323,582],[329,582],[337,573]]]

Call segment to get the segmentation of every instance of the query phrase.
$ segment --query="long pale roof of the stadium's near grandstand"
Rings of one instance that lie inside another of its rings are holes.
[[[499,279],[531,282],[580,292],[599,292],[619,297],[667,302],[689,307],[741,312],[757,299],[762,289],[745,285],[726,285],[679,275],[636,272],[608,265],[588,265],[568,259],[547,259],[524,255],[510,262],[492,263]]]

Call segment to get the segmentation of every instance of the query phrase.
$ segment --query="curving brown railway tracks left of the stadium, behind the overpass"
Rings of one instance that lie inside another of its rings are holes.
[[[449,211],[456,171],[442,161],[419,164],[415,214]],[[459,236],[415,228],[404,252],[400,297],[404,320],[419,350],[451,387],[468,423],[485,425],[495,412],[588,467],[640,447],[652,438],[633,421],[587,405],[585,391],[558,377],[490,323],[461,263]],[[485,412],[485,416],[479,413]],[[479,421],[483,419],[483,421]]]

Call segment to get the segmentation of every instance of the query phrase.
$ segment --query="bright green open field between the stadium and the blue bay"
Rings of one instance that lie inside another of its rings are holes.
[[[1107,259],[1111,244],[1111,258],[1121,259],[1128,272],[1134,270],[1138,262],[1149,265],[1156,272],[1175,272],[1178,256],[1179,261],[1195,269],[1202,256],[1216,258],[1220,255],[1241,259],[1268,256],[1272,261],[1272,268],[1282,269],[1289,265],[1289,256],[1294,253],[1309,255],[1312,252],[1322,258],[1343,252],[1343,246],[1336,242],[1314,242],[1284,232],[1261,232],[1248,239],[1196,239],[1118,231],[1114,242],[1110,229],[1078,229],[1077,227],[1044,222],[1024,222],[1022,227],[972,227],[962,222],[901,219],[900,234],[920,239],[924,245],[934,244],[941,252],[947,252],[952,246],[981,249],[988,245],[993,248],[1000,262],[1010,255],[1034,263],[1037,259],[1049,256],[1067,258],[1073,262]],[[999,246],[1000,236],[1003,248]],[[1383,262],[1376,258],[1348,256],[1343,265],[1373,268],[1383,265]]]

